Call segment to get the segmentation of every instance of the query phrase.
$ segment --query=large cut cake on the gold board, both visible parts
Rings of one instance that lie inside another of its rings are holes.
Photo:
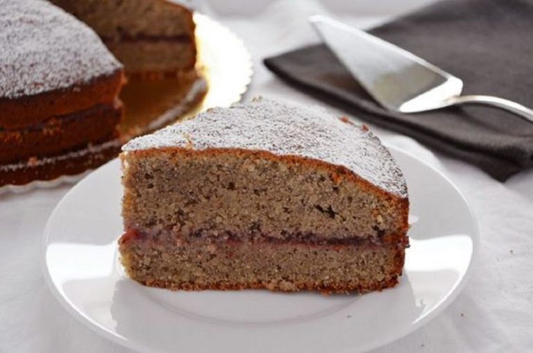
[[[162,82],[183,99],[205,82],[192,11],[175,1],[0,0],[0,28],[0,187],[95,168],[143,132],[119,129],[124,70],[137,91]]]

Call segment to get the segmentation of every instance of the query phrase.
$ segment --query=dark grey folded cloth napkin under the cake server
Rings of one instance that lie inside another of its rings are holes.
[[[533,0],[447,0],[369,31],[464,80],[464,94],[533,107]],[[275,74],[377,126],[505,181],[533,166],[533,124],[492,107],[384,110],[323,44],[264,60]]]

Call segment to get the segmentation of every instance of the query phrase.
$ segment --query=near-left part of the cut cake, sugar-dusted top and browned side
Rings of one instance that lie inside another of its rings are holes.
[[[99,166],[119,150],[122,65],[42,0],[0,0],[0,187]]]

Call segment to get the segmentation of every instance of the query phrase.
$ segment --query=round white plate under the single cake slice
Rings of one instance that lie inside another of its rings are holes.
[[[367,295],[269,291],[171,292],[128,279],[117,261],[120,167],[76,185],[44,232],[44,277],[95,332],[145,352],[356,352],[404,336],[457,296],[478,242],[475,216],[439,172],[394,150],[411,200],[405,273]]]

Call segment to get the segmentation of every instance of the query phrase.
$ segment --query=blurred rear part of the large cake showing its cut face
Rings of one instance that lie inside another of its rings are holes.
[[[128,76],[194,79],[192,11],[168,0],[51,0],[96,31]]]

